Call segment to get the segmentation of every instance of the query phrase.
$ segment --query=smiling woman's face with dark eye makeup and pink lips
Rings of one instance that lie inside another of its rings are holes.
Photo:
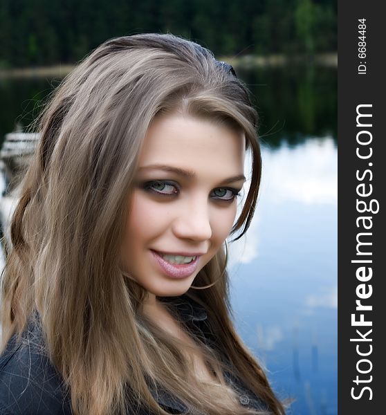
[[[181,115],[151,123],[122,243],[126,270],[149,293],[182,295],[221,248],[235,221],[244,157],[245,136],[229,127]],[[190,256],[191,264],[176,264]]]

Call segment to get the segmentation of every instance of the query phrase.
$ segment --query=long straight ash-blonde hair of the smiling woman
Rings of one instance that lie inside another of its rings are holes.
[[[109,39],[63,80],[35,124],[39,142],[21,182],[1,280],[1,347],[39,310],[46,351],[71,391],[74,414],[125,414],[138,403],[169,414],[151,395],[149,380],[180,398],[190,413],[257,413],[239,405],[229,388],[224,397],[221,356],[271,412],[284,414],[230,320],[228,273],[210,288],[187,291],[205,306],[217,338],[215,349],[198,339],[192,346],[220,380],[203,387],[187,376],[192,362],[178,340],[141,313],[145,290],[122,272],[122,223],[138,154],[151,120],[176,109],[245,132],[252,181],[231,234],[243,228],[239,239],[246,232],[261,156],[257,113],[245,84],[209,50],[181,37]],[[225,261],[220,250],[194,284],[214,282]]]

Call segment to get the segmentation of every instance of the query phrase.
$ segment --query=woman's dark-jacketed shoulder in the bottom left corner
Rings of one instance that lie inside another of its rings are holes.
[[[0,414],[71,414],[62,376],[44,351],[42,331],[29,323],[0,355]]]

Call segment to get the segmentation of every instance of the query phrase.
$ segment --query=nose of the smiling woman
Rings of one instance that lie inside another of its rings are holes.
[[[178,238],[205,241],[212,237],[208,200],[187,201],[174,221],[174,234]]]

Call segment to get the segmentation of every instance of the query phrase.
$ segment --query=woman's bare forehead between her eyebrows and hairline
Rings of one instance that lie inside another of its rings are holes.
[[[150,125],[140,151],[139,167],[171,165],[187,170],[243,172],[245,135],[210,120],[164,116]]]

